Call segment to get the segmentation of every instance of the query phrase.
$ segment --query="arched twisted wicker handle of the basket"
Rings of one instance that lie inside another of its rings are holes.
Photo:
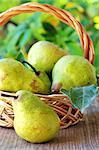
[[[93,42],[89,35],[86,33],[83,26],[66,10],[56,8],[48,4],[39,3],[26,3],[20,6],[13,7],[0,14],[0,26],[7,23],[10,18],[22,14],[32,12],[45,12],[57,17],[62,22],[66,23],[70,27],[74,28],[80,38],[81,47],[84,50],[84,57],[89,60],[90,63],[94,63],[94,47]]]

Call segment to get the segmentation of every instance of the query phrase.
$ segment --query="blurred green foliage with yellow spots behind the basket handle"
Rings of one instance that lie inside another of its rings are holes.
[[[95,48],[95,62],[99,74],[99,0],[0,0],[0,13],[26,2],[47,3],[70,11],[85,27]],[[0,58],[26,59],[29,48],[39,40],[51,41],[73,55],[83,55],[76,32],[44,14],[22,14],[0,27]]]

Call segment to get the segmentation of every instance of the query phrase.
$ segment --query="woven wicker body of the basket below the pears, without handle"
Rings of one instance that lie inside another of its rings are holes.
[[[13,127],[14,113],[12,108],[12,100],[10,96],[15,93],[0,91],[0,125],[3,127]],[[37,95],[42,101],[51,106],[60,118],[61,128],[67,128],[83,119],[83,115],[79,109],[73,108],[70,99],[61,94],[54,95]]]

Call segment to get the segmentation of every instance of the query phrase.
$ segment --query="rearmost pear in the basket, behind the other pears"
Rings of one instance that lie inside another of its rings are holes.
[[[48,41],[35,43],[28,53],[28,62],[36,69],[51,72],[54,64],[67,52]]]

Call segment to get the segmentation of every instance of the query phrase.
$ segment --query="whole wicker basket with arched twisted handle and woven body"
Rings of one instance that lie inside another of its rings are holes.
[[[24,5],[11,8],[0,14],[0,26],[4,25],[8,20],[10,20],[10,18],[18,14],[32,12],[45,12],[51,14],[60,21],[74,28],[80,38],[81,47],[84,51],[84,57],[93,64],[94,47],[92,40],[84,30],[83,26],[66,10],[56,8],[48,4],[26,3]],[[13,127],[14,114],[12,99],[10,98],[11,95],[13,97],[15,93],[0,92],[0,126],[3,127]],[[68,126],[74,125],[82,120],[83,115],[79,109],[73,108],[71,101],[67,96],[61,94],[37,96],[39,96],[45,103],[53,107],[60,118],[61,128],[67,128]]]

